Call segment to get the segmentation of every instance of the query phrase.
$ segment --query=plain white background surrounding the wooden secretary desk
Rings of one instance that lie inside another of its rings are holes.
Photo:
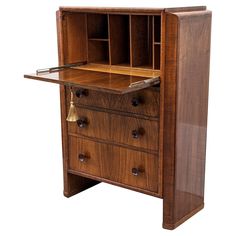
[[[235,235],[234,1],[112,2],[1,2],[0,235]],[[207,5],[213,11],[205,209],[175,231],[161,227],[161,199],[107,184],[63,196],[59,88],[23,79],[57,65],[60,5]]]

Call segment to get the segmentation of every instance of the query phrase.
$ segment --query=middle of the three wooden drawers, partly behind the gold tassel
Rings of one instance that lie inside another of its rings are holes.
[[[69,122],[69,134],[130,145],[149,150],[158,150],[158,121],[122,116],[107,112],[77,109],[79,121]]]

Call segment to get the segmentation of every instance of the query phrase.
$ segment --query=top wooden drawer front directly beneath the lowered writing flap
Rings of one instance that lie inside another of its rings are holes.
[[[159,89],[148,88],[128,94],[109,94],[105,92],[73,88],[76,103],[116,111],[129,112],[152,117],[159,116]],[[67,101],[69,103],[69,90]]]

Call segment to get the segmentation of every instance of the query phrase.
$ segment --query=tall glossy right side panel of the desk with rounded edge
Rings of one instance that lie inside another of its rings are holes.
[[[163,227],[204,204],[211,12],[166,16]],[[197,40],[196,40],[197,38]],[[186,47],[186,45],[188,45]]]

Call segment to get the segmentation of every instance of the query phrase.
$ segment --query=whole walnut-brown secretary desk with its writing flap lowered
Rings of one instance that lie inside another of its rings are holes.
[[[174,229],[204,206],[211,12],[61,7],[64,195],[99,182],[163,199]],[[69,109],[78,118],[67,121]]]

